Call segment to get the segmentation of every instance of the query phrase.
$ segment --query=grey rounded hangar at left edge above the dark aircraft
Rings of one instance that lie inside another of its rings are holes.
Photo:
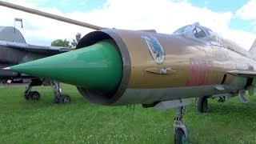
[[[22,33],[12,26],[0,26],[0,41],[26,44],[26,40]]]

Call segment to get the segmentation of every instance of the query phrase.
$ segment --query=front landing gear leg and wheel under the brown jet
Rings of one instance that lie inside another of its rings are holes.
[[[175,144],[187,144],[189,143],[189,132],[182,122],[182,115],[185,114],[185,107],[178,107],[176,116],[174,118],[174,143]]]

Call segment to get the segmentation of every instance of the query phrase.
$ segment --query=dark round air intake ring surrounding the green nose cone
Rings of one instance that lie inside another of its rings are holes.
[[[89,102],[94,102],[101,105],[111,105],[117,102],[119,98],[125,93],[128,83],[130,81],[130,54],[128,52],[125,42],[122,38],[114,32],[115,30],[105,29],[98,30],[86,34],[79,42],[76,49],[93,45],[97,42],[110,39],[114,42],[114,45],[118,48],[119,53],[122,55],[122,79],[116,89],[111,90],[108,93],[99,93],[96,90],[88,90],[83,87],[78,87],[78,91],[82,94],[83,98],[86,98]]]

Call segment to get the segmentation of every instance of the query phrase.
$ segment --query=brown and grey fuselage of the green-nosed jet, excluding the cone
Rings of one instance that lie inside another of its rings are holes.
[[[151,43],[149,38],[152,38]],[[116,93],[101,104],[149,104],[213,94],[237,94],[238,90],[254,83],[251,78],[227,73],[231,70],[254,71],[256,62],[249,52],[240,50],[234,43],[230,45],[225,39],[216,43],[183,33],[100,30],[82,38],[78,48],[104,39],[112,39],[118,46],[123,74]],[[152,47],[156,47],[154,52]],[[154,54],[158,54],[162,62],[154,58]],[[102,98],[97,92],[78,90],[91,102],[94,100],[90,99],[90,94]]]

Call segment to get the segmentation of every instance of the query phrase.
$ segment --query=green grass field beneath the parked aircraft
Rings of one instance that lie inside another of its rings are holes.
[[[175,110],[97,106],[68,85],[62,90],[69,105],[53,104],[49,86],[35,88],[38,102],[26,101],[23,90],[0,88],[0,143],[173,143]],[[210,100],[209,106],[207,114],[198,114],[194,102],[187,107],[190,143],[256,143],[256,98]]]

